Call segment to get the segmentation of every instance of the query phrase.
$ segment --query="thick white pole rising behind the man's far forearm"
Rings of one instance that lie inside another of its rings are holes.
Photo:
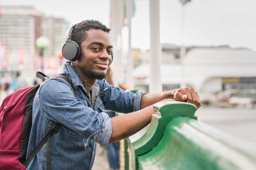
[[[149,0],[150,84],[149,92],[162,92],[159,0]]]

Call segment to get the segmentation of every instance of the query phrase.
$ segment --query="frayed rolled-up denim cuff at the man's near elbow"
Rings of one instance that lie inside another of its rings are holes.
[[[91,139],[103,146],[107,146],[112,134],[111,118],[105,112],[101,112],[97,118],[99,119],[99,122],[102,122],[102,129],[92,135]]]

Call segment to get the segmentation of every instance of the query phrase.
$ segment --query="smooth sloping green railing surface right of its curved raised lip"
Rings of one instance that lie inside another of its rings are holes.
[[[177,117],[137,161],[138,170],[256,170],[256,148],[189,117]]]

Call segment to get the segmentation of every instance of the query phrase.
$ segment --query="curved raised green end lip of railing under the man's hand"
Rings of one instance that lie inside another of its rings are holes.
[[[158,102],[154,105],[155,114],[152,115],[150,125],[135,135],[127,138],[131,149],[132,168],[137,168],[137,156],[144,154],[154,148],[163,136],[167,123],[173,118],[187,116],[196,119],[194,116],[196,107],[186,102]]]

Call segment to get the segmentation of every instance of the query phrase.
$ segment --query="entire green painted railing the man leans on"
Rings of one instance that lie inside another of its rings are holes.
[[[151,123],[125,139],[123,169],[256,170],[256,146],[198,122],[195,105],[159,102],[154,110]]]

